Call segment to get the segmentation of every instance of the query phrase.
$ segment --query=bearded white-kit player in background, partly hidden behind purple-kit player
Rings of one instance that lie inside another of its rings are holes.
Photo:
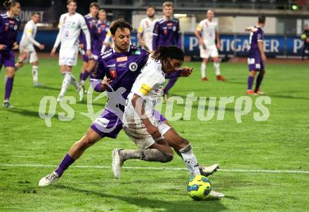
[[[155,6],[147,7],[147,18],[140,21],[140,27],[138,27],[138,42],[146,51],[152,51],[152,32],[155,27]]]

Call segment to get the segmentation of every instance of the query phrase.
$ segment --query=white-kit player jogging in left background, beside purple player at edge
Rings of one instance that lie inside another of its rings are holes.
[[[18,62],[15,64],[16,70],[25,65],[26,62],[32,63],[32,77],[34,87],[39,86],[38,82],[38,70],[39,60],[37,58],[37,52],[35,51],[34,45],[39,49],[43,50],[44,45],[39,44],[38,41],[34,40],[37,34],[37,23],[40,21],[40,13],[33,13],[32,19],[27,22],[22,33],[22,39],[20,40],[20,56]]]

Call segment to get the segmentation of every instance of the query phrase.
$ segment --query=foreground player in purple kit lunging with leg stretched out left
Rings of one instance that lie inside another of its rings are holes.
[[[107,91],[109,94],[105,110],[88,128],[86,135],[72,145],[58,168],[39,180],[40,186],[51,185],[59,180],[63,172],[98,140],[104,137],[117,138],[122,129],[121,119],[126,97],[148,59],[146,51],[130,45],[131,30],[131,25],[124,20],[115,20],[112,23],[110,32],[112,33],[114,48],[106,51],[98,58],[91,74],[91,84],[94,90],[98,92]],[[188,73],[188,70],[178,72],[175,77],[183,74],[182,72]],[[190,74],[185,74],[185,76],[188,75]],[[105,76],[107,79],[104,79]],[[162,121],[166,120],[162,116],[161,119]]]

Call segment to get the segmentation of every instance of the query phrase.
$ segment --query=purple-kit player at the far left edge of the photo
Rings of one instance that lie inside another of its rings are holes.
[[[20,3],[15,0],[4,1],[7,13],[0,15],[0,70],[2,65],[6,67],[6,91],[4,95],[4,107],[12,107],[8,100],[13,89],[15,76],[15,60],[13,49],[18,49],[16,42],[20,27]]]

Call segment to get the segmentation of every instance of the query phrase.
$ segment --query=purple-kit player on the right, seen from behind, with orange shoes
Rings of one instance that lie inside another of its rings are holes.
[[[247,94],[263,94],[260,90],[261,83],[265,74],[266,56],[264,52],[264,32],[263,27],[265,26],[265,16],[258,17],[258,25],[255,27],[248,27],[246,31],[250,32],[249,38],[249,53],[248,53],[248,65],[249,65],[249,77],[248,77],[248,89]],[[254,84],[254,77],[256,77],[256,72],[258,72],[258,77],[256,78],[256,88],[252,90],[252,85]]]

